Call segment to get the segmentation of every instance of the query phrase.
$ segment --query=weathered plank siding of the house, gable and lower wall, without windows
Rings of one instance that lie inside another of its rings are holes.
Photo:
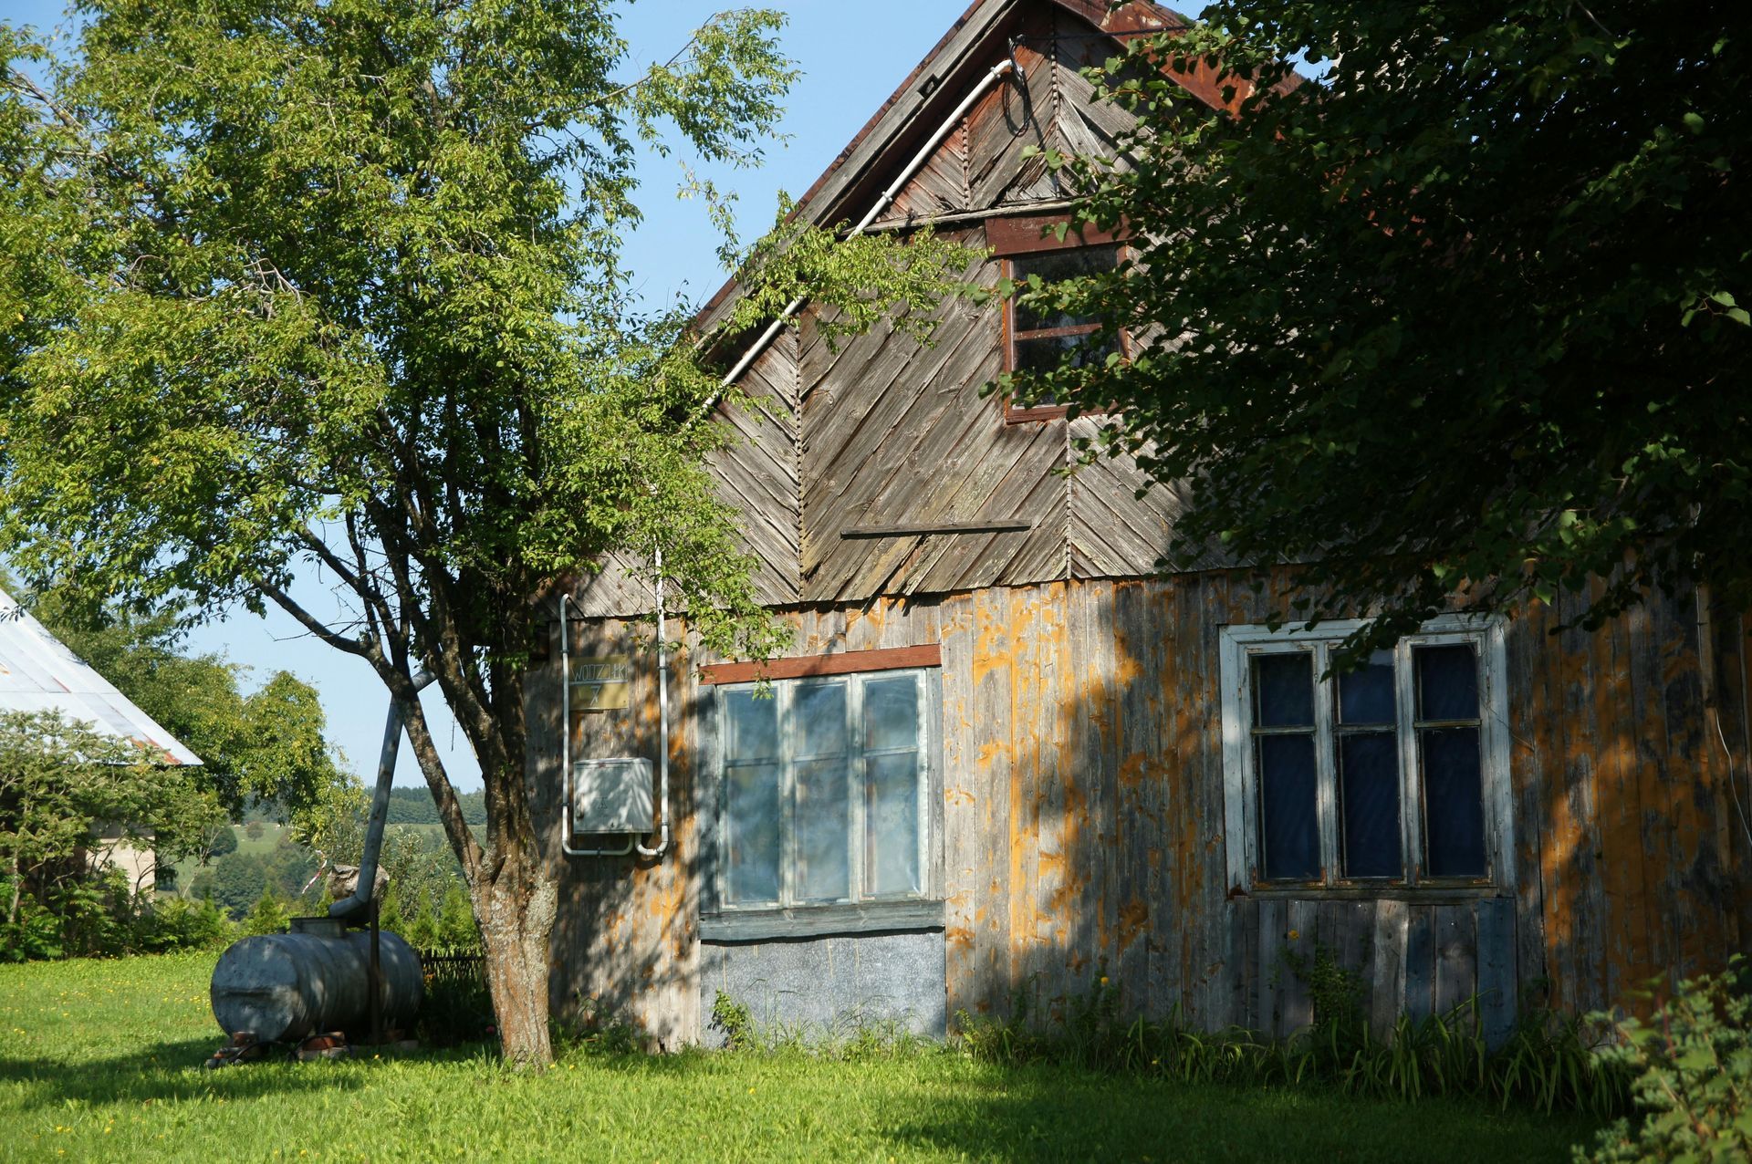
[[[944,233],[983,250],[983,215],[1062,207],[1070,191],[1028,149],[1088,152],[1123,130],[1076,72],[1113,49],[1093,21],[1121,12],[1127,28],[1165,19],[1097,0],[978,5],[915,74],[941,81],[939,96],[902,86],[811,191],[811,221],[862,217],[1014,32],[1025,91],[976,103],[880,224],[950,215]],[[971,259],[969,275],[992,285],[999,263]],[[983,394],[1002,366],[1000,305],[950,301],[937,320],[930,347],[876,327],[836,348],[806,310],[743,380],[746,401],[722,410],[739,439],[713,473],[799,655],[941,644],[950,1013],[1006,1012],[1018,994],[1049,1013],[1107,975],[1127,1010],[1281,1033],[1310,1015],[1284,956],[1319,945],[1363,973],[1381,1022],[1480,994],[1501,1031],[1522,998],[1566,1012],[1626,1003],[1654,975],[1720,966],[1752,933],[1726,756],[1747,749],[1741,628],[1715,620],[1699,649],[1691,600],[1552,634],[1580,613],[1582,599],[1565,599],[1508,628],[1514,884],[1367,898],[1226,884],[1219,632],[1282,611],[1288,578],[1256,593],[1211,560],[1141,581],[1184,497],[1139,499],[1125,457],[1062,474],[1100,420],[1006,424]],[[974,520],[1027,529],[846,537]],[[575,627],[575,653],[618,655],[648,635],[617,621],[650,609],[639,565],[610,562],[573,588],[596,620]],[[699,845],[713,805],[692,770],[690,676],[711,662],[676,667],[661,861],[559,858],[557,649],[531,684],[531,774],[564,886],[554,1001],[629,1017],[666,1045],[701,1031]],[[629,712],[569,725],[575,754],[653,756],[655,719],[646,663]]]

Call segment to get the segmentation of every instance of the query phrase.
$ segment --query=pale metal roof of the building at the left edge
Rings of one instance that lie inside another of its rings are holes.
[[[0,590],[0,711],[58,711],[107,735],[144,744],[165,763],[201,761],[5,590]]]

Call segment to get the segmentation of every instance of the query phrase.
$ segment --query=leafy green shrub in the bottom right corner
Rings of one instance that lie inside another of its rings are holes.
[[[1727,973],[1680,982],[1649,1022],[1617,1024],[1608,1052],[1629,1071],[1642,1120],[1621,1118],[1579,1160],[1752,1159],[1752,994],[1738,954]]]

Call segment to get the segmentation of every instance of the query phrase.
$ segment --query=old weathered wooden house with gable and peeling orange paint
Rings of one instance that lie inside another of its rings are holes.
[[[1104,149],[1123,114],[1079,67],[1176,21],[978,0],[801,214],[932,222],[992,252],[988,285],[1113,263],[1111,238],[1042,238],[1069,191],[1028,147]],[[981,392],[1086,326],[1000,301],[941,320],[934,347],[836,350],[806,305],[738,369],[752,403],[720,411],[741,439],[713,469],[795,627],[771,698],[696,651],[661,716],[636,564],[555,609],[531,779],[561,1012],[710,1041],[724,991],[757,1022],[941,1033],[1106,978],[1127,1012],[1282,1033],[1319,947],[1381,1022],[1477,996],[1501,1031],[1741,949],[1738,620],[1682,597],[1554,635],[1570,606],[1456,607],[1323,681],[1349,625],[1268,630],[1289,574],[1156,574],[1176,494],[1137,499],[1125,460],[1063,474],[1097,422]]]

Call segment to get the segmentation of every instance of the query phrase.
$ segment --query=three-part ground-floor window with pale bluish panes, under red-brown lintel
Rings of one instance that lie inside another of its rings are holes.
[[[920,670],[722,688],[725,908],[923,896],[925,693]]]

